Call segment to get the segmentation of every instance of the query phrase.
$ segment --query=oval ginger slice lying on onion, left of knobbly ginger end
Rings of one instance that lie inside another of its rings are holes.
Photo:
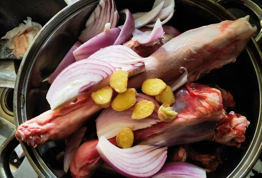
[[[134,106],[132,119],[143,119],[150,116],[155,109],[155,104],[152,101],[144,100]]]

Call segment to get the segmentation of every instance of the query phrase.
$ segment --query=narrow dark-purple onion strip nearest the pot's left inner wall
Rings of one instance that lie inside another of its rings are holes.
[[[75,57],[73,55],[73,51],[75,51],[82,43],[76,42],[74,46],[68,51],[68,53],[65,55],[63,60],[60,62],[60,64],[57,66],[56,70],[49,76],[48,83],[52,84],[56,76],[67,66],[75,62]]]

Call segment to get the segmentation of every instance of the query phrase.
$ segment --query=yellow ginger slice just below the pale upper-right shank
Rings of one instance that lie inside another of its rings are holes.
[[[167,88],[167,84],[159,78],[147,79],[142,84],[142,91],[150,96],[160,94]]]

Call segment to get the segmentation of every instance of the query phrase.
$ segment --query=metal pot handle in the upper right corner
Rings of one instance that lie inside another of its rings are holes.
[[[257,32],[255,40],[258,44],[262,39],[262,9],[251,0],[218,0],[216,1],[226,9],[235,8],[246,12],[256,22]]]

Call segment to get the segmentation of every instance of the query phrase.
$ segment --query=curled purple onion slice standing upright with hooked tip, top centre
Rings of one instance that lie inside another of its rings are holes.
[[[124,44],[125,40],[131,35],[134,30],[134,18],[128,9],[122,10],[120,13],[126,14],[125,24],[121,28],[121,32],[114,42],[114,45]]]

